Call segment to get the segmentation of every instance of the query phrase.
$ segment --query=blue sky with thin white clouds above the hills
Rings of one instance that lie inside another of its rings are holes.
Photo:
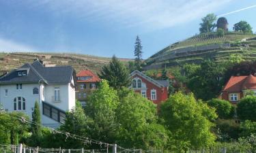
[[[255,0],[0,0],[0,51],[134,58],[139,35],[148,58],[199,33],[209,13],[227,14],[229,29],[246,20],[256,31]]]

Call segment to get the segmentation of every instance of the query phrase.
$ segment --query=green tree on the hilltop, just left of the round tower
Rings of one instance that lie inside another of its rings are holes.
[[[216,27],[216,24],[214,23],[216,21],[217,17],[214,14],[208,14],[207,16],[202,18],[202,22],[200,23],[199,31],[200,33],[210,33],[214,30]]]

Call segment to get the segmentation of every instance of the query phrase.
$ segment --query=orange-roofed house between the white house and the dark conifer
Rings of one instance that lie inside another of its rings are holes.
[[[76,99],[81,102],[84,107],[87,102],[88,95],[96,88],[100,78],[92,71],[86,69],[76,74]]]

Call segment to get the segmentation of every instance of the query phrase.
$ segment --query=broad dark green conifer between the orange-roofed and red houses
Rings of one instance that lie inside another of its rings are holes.
[[[118,59],[113,56],[109,65],[105,65],[98,74],[101,79],[107,80],[115,89],[130,85],[129,71]]]

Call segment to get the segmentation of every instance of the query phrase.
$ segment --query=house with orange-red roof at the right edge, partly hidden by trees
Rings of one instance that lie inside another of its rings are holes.
[[[253,90],[256,93],[256,77],[254,75],[231,76],[219,98],[236,105],[244,97],[246,90]]]

